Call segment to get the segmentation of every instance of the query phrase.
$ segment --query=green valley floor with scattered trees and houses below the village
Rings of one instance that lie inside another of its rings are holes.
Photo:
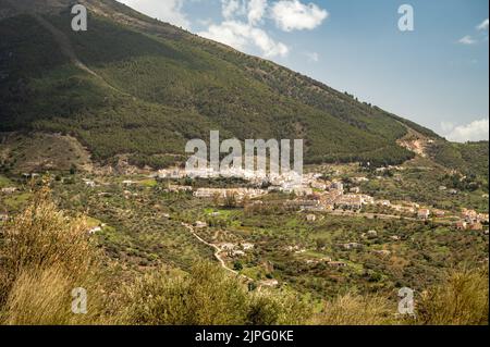
[[[444,175],[422,164],[375,172],[309,168],[306,176],[317,178],[308,184],[316,188],[303,197],[273,189],[255,198],[196,197],[253,188],[228,178],[60,172],[34,179],[50,182],[63,210],[89,215],[89,233],[130,274],[161,265],[187,271],[207,259],[254,286],[287,287],[318,305],[346,290],[395,302],[401,287],[424,290],[450,269],[488,265],[488,209],[481,209],[488,196],[442,189]],[[7,219],[28,201],[32,183],[1,177]],[[342,182],[343,197],[367,202],[338,206],[331,197],[339,187],[329,182]],[[417,191],[408,190],[414,183]]]

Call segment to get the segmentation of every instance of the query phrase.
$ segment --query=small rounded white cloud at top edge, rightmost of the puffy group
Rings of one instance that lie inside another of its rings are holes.
[[[271,15],[279,28],[293,32],[316,28],[329,13],[315,3],[304,4],[299,0],[281,0],[272,5]]]

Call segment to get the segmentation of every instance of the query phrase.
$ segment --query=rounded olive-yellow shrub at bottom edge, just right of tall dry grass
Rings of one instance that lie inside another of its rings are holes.
[[[124,324],[240,324],[246,293],[234,278],[209,263],[191,275],[157,271],[125,288]]]

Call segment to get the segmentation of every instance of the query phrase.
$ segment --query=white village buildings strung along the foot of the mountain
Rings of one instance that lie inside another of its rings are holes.
[[[383,170],[403,170],[399,166],[389,166],[378,169],[379,172]],[[341,181],[324,181],[321,179],[321,174],[318,173],[305,173],[298,176],[294,171],[277,175],[268,176],[260,175],[254,171],[247,171],[244,169],[230,169],[225,172],[215,172],[212,169],[206,169],[204,171],[186,172],[182,169],[160,170],[158,177],[160,178],[183,178],[188,176],[200,177],[216,177],[216,176],[229,176],[241,177],[252,184],[269,184],[268,189],[250,189],[250,188],[199,188],[194,191],[194,196],[198,198],[226,198],[234,195],[237,200],[247,198],[257,198],[264,196],[270,191],[282,191],[286,194],[295,194],[296,198],[290,200],[286,203],[290,206],[298,207],[305,211],[328,211],[328,210],[351,210],[359,211],[363,206],[376,205],[379,207],[388,208],[400,214],[408,214],[417,216],[419,220],[428,220],[430,216],[443,218],[445,212],[442,210],[428,208],[421,208],[418,203],[406,202],[401,205],[391,203],[390,200],[375,200],[373,197],[362,194],[359,187],[351,187],[346,193],[344,184]],[[364,183],[369,179],[364,176],[357,176],[352,178],[355,183]],[[171,186],[169,188],[172,191],[192,190],[192,187],[184,186]],[[457,222],[456,227],[466,230],[481,230],[482,224],[488,224],[488,214],[477,213],[474,210],[464,210],[463,219]]]

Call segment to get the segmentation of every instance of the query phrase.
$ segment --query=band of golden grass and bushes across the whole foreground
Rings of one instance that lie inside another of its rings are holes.
[[[415,317],[397,317],[379,295],[347,293],[316,308],[293,290],[254,289],[206,261],[188,272],[120,276],[86,231],[87,220],[59,211],[45,188],[2,225],[2,324],[488,324],[483,269],[449,273],[416,298]],[[75,287],[88,293],[86,314],[71,312]]]

